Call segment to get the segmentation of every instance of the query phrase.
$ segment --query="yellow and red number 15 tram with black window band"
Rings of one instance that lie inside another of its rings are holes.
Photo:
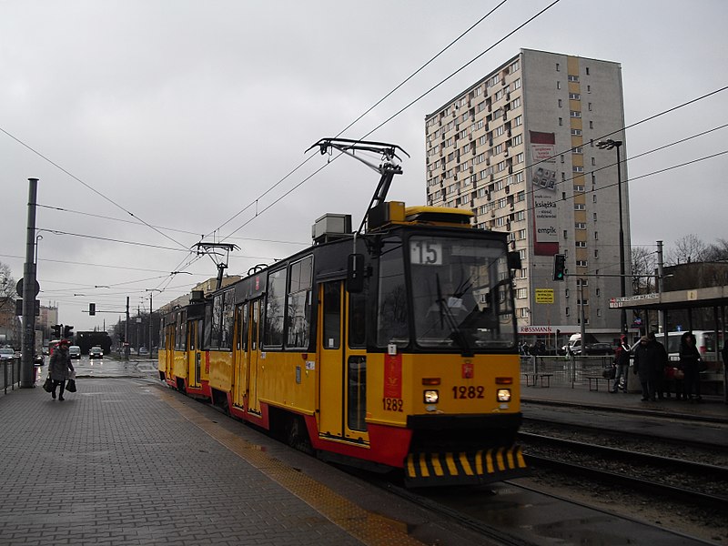
[[[366,227],[321,217],[310,248],[167,314],[159,377],[323,460],[400,470],[411,487],[526,475],[518,254],[505,233],[471,227],[470,211],[405,207],[382,198],[387,185]]]

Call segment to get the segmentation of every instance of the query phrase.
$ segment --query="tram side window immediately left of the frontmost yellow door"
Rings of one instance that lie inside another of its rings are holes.
[[[286,347],[307,349],[310,335],[311,273],[313,257],[308,256],[290,267],[288,285],[288,320]]]

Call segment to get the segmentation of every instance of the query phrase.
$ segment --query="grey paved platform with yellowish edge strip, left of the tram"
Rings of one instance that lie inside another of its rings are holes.
[[[420,543],[158,381],[79,379],[65,398],[0,395],[0,544]]]

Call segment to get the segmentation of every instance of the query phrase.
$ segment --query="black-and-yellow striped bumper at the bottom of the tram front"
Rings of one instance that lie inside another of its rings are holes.
[[[404,464],[407,487],[477,485],[521,478],[530,473],[521,446],[410,453]]]

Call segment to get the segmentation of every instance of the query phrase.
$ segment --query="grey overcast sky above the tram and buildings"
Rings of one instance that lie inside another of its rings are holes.
[[[115,323],[126,296],[158,308],[214,277],[186,251],[203,235],[237,244],[227,272],[245,274],[305,248],[327,212],[358,226],[379,176],[306,150],[497,4],[0,0],[0,261],[22,277],[29,177],[39,298],[76,330]],[[341,136],[367,135],[550,4],[507,1]],[[726,21],[724,0],[561,0],[368,136],[410,153],[389,198],[424,203],[424,117],[521,48],[621,63],[631,126],[728,86]],[[637,157],[728,124],[726,105],[728,90],[627,130],[633,246],[728,238],[728,155],[646,176],[724,152],[726,129]],[[91,301],[112,312],[89,317]]]

